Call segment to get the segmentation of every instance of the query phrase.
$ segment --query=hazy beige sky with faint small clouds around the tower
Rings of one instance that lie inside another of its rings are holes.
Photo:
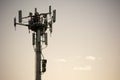
[[[57,10],[43,80],[120,79],[119,0],[0,0],[0,80],[35,80],[32,36],[24,26],[14,30],[18,10],[23,16]]]

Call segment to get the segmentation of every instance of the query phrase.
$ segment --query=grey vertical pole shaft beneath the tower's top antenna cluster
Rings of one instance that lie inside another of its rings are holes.
[[[36,80],[41,80],[41,35],[36,31]]]

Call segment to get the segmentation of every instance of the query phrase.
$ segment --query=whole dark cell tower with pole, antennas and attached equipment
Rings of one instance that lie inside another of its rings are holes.
[[[27,23],[23,20],[28,19]],[[14,18],[14,27],[16,25],[27,26],[29,32],[32,31],[32,44],[35,46],[36,52],[36,80],[41,80],[42,73],[46,72],[47,59],[42,58],[42,46],[48,45],[47,30],[52,33],[52,24],[56,22],[56,10],[51,11],[49,6],[48,13],[38,13],[37,8],[35,12],[30,12],[28,16],[22,16],[22,10],[18,11],[18,22]]]

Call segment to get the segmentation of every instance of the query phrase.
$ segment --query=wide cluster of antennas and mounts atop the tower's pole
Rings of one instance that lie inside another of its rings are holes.
[[[23,20],[28,19],[28,22],[25,23]],[[18,11],[18,22],[16,22],[16,17],[14,18],[14,26],[23,25],[27,26],[29,31],[36,32],[38,29],[42,32],[43,35],[47,29],[52,33],[52,24],[56,22],[56,10],[51,11],[51,6],[49,6],[48,13],[38,13],[37,8],[35,12],[29,12],[29,15],[26,17],[22,16],[22,10]]]

